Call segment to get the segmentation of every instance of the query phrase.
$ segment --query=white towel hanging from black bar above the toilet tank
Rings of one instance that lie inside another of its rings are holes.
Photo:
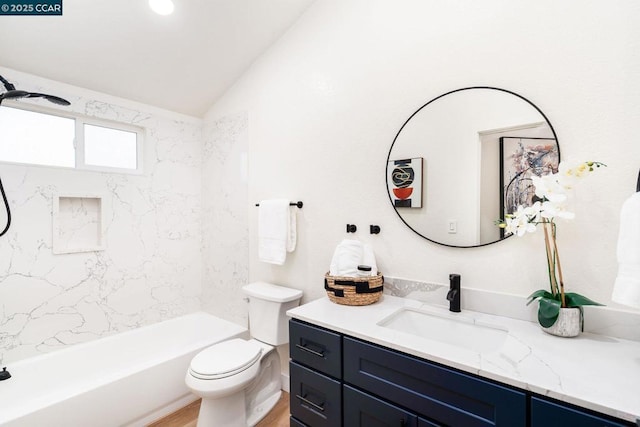
[[[293,229],[291,228],[293,224]],[[293,237],[292,237],[293,234]],[[289,200],[273,199],[260,202],[258,214],[258,258],[282,265],[295,249],[295,218],[291,219]]]

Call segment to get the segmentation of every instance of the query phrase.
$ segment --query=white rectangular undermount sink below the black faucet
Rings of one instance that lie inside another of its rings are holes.
[[[403,307],[377,323],[379,326],[429,340],[484,353],[498,350],[507,329],[465,314]]]

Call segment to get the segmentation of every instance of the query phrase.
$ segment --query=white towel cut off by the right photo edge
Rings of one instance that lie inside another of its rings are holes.
[[[640,193],[622,205],[617,254],[618,277],[611,299],[640,308]]]

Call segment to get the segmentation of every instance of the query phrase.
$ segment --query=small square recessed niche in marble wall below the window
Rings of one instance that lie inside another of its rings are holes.
[[[53,253],[104,250],[103,205],[102,196],[54,196]]]

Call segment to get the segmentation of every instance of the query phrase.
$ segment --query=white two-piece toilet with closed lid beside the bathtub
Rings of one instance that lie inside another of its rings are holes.
[[[289,342],[286,312],[302,291],[265,282],[242,287],[249,300],[251,339],[234,338],[198,353],[189,366],[187,387],[202,398],[198,427],[252,427],[282,394],[276,346]]]

